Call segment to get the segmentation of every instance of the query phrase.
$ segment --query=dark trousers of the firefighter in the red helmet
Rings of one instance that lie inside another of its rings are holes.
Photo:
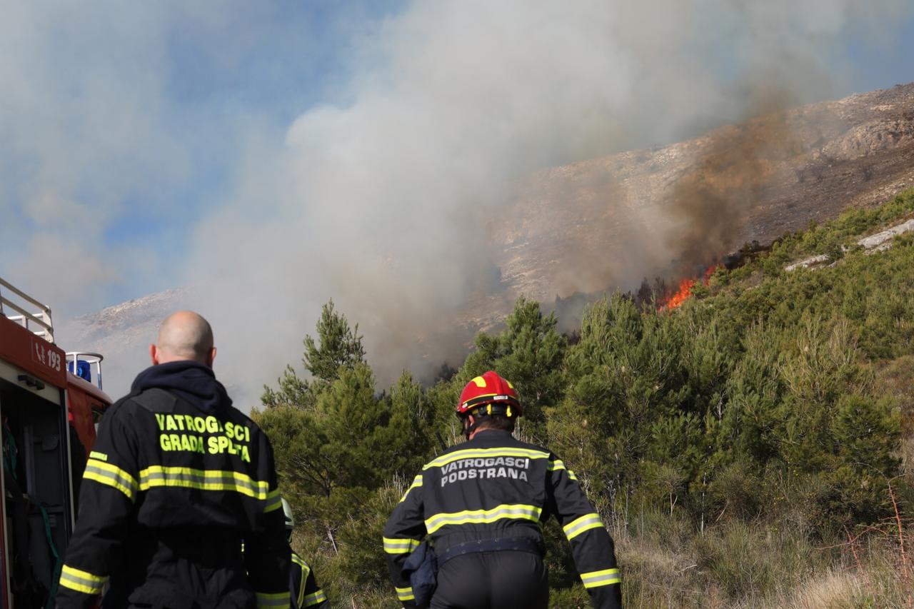
[[[441,565],[431,609],[547,609],[543,560],[531,552],[501,550],[456,556]]]

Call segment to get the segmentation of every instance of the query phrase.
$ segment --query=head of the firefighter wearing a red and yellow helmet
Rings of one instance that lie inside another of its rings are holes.
[[[457,402],[457,416],[467,438],[483,429],[514,432],[515,422],[521,414],[523,409],[514,385],[492,370],[468,382]]]

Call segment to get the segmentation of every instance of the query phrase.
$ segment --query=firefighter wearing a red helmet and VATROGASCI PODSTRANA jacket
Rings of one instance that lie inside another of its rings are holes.
[[[463,389],[457,415],[467,442],[422,468],[384,529],[391,577],[404,606],[421,606],[402,568],[428,536],[438,561],[431,607],[545,609],[540,526],[549,516],[558,518],[571,543],[593,606],[622,606],[609,533],[555,454],[515,440],[522,413],[514,387],[493,371]]]

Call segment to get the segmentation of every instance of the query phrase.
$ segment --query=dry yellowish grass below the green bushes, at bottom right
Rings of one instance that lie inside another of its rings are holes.
[[[914,609],[914,572],[902,561],[897,531],[866,533],[852,547],[813,543],[800,529],[739,522],[692,536],[670,535],[662,525],[664,535],[657,535],[650,523],[659,519],[646,521],[633,534],[614,532],[626,607]],[[908,545],[912,533],[904,532]]]

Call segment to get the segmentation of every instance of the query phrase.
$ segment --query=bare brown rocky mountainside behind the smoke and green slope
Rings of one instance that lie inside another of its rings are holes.
[[[464,343],[499,324],[520,294],[550,303],[557,295],[630,289],[645,277],[694,276],[746,242],[770,242],[909,186],[914,84],[546,169],[516,185],[494,227],[500,289],[476,294],[457,323],[445,325],[448,337],[422,337],[417,348],[435,345],[427,352],[440,358],[441,344]],[[109,378],[132,379],[155,325],[186,305],[187,295],[175,290],[112,306],[65,324],[58,336],[124,369]]]

